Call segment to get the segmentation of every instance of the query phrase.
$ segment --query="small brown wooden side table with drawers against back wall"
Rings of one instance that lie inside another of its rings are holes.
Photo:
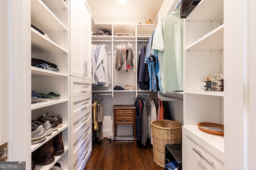
[[[114,143],[116,144],[116,125],[133,124],[134,143],[136,144],[136,107],[133,105],[114,105]]]

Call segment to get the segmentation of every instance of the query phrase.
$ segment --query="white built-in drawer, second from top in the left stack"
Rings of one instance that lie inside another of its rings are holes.
[[[69,119],[73,119],[83,111],[92,108],[91,102],[92,95],[86,94],[84,96],[77,96],[70,98],[70,115]]]

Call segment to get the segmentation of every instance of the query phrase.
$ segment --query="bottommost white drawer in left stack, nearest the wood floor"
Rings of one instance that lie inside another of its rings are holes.
[[[74,160],[69,166],[70,170],[82,170],[84,169],[88,159],[90,158],[92,152],[92,135],[88,135],[90,138],[86,141],[85,145],[82,146],[82,149],[78,152]]]

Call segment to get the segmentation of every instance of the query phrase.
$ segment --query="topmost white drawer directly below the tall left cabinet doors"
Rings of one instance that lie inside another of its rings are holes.
[[[69,76],[70,78],[70,97],[82,96],[92,93],[92,80]]]

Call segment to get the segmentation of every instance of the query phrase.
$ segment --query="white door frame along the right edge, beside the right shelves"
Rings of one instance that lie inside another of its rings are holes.
[[[224,138],[227,170],[255,169],[255,7],[254,0],[224,0]]]

